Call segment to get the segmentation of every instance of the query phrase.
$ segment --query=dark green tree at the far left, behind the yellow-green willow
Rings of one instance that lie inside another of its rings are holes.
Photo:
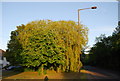
[[[5,56],[11,65],[17,65],[21,63],[20,53],[22,52],[21,44],[17,39],[17,31],[11,32],[11,40],[8,43],[8,49],[6,50]]]

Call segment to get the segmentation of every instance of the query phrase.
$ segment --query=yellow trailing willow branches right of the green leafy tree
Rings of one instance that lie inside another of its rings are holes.
[[[80,54],[86,45],[88,29],[84,25],[78,26],[74,21],[56,21],[49,23],[50,30],[54,31],[66,48],[65,65],[63,71],[78,72],[82,66]]]

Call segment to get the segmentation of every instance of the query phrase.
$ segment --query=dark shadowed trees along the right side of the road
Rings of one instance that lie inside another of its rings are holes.
[[[91,48],[89,64],[119,70],[120,24],[112,36],[101,35]]]

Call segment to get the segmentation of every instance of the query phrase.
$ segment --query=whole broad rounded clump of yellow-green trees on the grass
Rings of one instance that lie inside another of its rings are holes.
[[[14,39],[11,38],[6,52],[10,62],[19,58],[17,64],[41,72],[47,69],[78,72],[82,66],[80,54],[88,41],[88,29],[84,25],[78,26],[74,21],[40,20],[17,26],[13,32]]]

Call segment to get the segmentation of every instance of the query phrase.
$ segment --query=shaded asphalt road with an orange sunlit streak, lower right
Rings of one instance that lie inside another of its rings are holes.
[[[100,69],[92,66],[84,66],[85,73],[88,79],[118,79],[120,76],[113,71]]]

